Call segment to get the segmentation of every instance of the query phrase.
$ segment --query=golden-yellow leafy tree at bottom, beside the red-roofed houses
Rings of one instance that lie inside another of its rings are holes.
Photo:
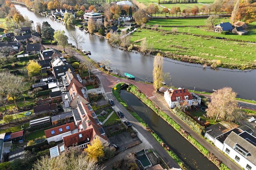
[[[98,160],[98,158],[104,156],[103,144],[98,137],[91,141],[91,145],[87,145],[84,151],[87,153],[91,160]]]

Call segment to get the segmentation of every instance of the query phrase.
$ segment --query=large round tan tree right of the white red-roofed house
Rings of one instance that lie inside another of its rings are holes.
[[[236,93],[231,87],[224,87],[211,94],[211,102],[208,104],[207,115],[210,118],[218,118],[233,121],[238,117]]]

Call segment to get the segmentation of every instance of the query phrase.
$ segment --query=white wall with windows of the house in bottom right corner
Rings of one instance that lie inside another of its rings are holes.
[[[226,150],[228,149],[228,150]],[[237,152],[235,149],[231,148],[230,146],[226,145],[224,142],[223,152],[227,154],[230,158],[235,160],[236,163],[238,163],[242,168],[245,170],[256,170],[256,165],[252,164],[249,160],[247,160],[242,154]],[[228,153],[229,152],[229,153]],[[238,161],[236,157],[240,158]],[[251,167],[251,169],[248,168],[248,165]],[[247,167],[247,168],[246,168]]]

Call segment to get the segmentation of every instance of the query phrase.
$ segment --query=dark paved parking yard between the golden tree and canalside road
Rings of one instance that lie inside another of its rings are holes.
[[[132,137],[132,135],[127,131],[111,136],[108,139],[110,140],[110,143],[119,145],[119,152],[141,143],[137,136]]]

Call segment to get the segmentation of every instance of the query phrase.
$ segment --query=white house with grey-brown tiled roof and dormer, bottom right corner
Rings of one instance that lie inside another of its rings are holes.
[[[247,170],[256,170],[256,137],[247,131],[231,132],[224,141],[223,152]]]

